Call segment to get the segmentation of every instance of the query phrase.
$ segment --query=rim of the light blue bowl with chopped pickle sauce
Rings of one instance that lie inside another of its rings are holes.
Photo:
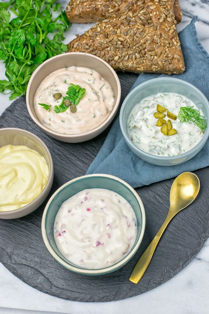
[[[193,150],[193,149],[199,149],[201,146],[202,146],[202,143],[206,143],[207,141],[207,138],[209,136],[209,125],[207,126],[206,128],[206,132],[205,132],[205,135],[201,138],[200,142],[197,143],[196,146],[194,146],[193,148],[191,148],[190,150],[182,153],[182,154],[179,154],[179,155],[175,155],[175,156],[158,156],[158,155],[152,155],[152,154],[149,154],[147,152],[145,152],[144,150],[142,149],[139,149],[135,144],[133,144],[133,142],[131,141],[131,139],[129,138],[129,136],[126,135],[126,132],[125,132],[125,127],[123,125],[123,112],[124,112],[124,109],[125,107],[127,106],[127,103],[128,103],[128,100],[129,98],[135,93],[136,90],[138,89],[141,89],[141,88],[146,88],[148,87],[150,84],[152,84],[153,82],[156,82],[156,81],[163,81],[163,80],[170,80],[170,81],[178,81],[182,84],[185,84],[185,85],[188,85],[190,86],[192,89],[194,89],[197,93],[199,93],[201,95],[201,97],[204,99],[204,101],[206,102],[207,106],[208,106],[208,111],[209,111],[209,101],[207,100],[206,96],[201,92],[200,89],[198,89],[195,85],[183,80],[183,79],[180,79],[180,78],[173,78],[173,77],[158,77],[158,78],[151,78],[139,85],[137,85],[134,89],[132,89],[130,91],[130,93],[128,93],[128,95],[126,96],[126,98],[124,99],[123,101],[123,104],[121,106],[121,109],[120,109],[120,115],[119,115],[119,122],[120,122],[120,128],[121,128],[121,132],[123,134],[123,137],[126,141],[126,143],[128,145],[131,146],[132,148],[132,151],[133,153],[135,154],[134,152],[134,149],[138,151],[138,153],[142,154],[144,157],[148,157],[148,158],[153,158],[154,160],[176,160],[176,158],[180,159],[180,158],[184,158],[188,155],[188,153]],[[208,117],[209,118],[209,117]],[[204,145],[203,144],[203,145]],[[139,157],[140,158],[140,157]]]

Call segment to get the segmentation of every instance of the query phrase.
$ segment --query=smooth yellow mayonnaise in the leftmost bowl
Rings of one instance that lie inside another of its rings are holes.
[[[43,191],[49,167],[38,152],[23,145],[0,148],[0,211],[31,203]]]

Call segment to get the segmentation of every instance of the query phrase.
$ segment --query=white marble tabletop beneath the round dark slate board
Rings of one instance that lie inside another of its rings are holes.
[[[62,0],[62,2],[65,5],[67,1]],[[190,22],[191,17],[198,15],[197,33],[202,45],[209,52],[209,0],[180,0],[180,6],[184,17],[178,25],[178,30],[183,29]],[[88,28],[89,24],[72,25],[66,33],[65,42],[68,43],[75,34],[81,34]],[[0,79],[2,78],[4,78],[4,66],[0,63]],[[1,114],[11,104],[8,95],[0,94],[0,103]],[[209,313],[208,283],[209,240],[193,261],[165,284],[136,297],[107,303],[82,303],[52,297],[28,286],[0,263],[0,314],[37,313],[36,311],[69,314],[133,312],[207,314]]]

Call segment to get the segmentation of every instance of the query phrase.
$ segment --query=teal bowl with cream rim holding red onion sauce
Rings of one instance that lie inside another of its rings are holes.
[[[131,204],[137,219],[137,237],[130,252],[120,262],[102,269],[82,268],[69,262],[58,250],[53,235],[55,216],[61,204],[76,193],[90,188],[103,188],[120,194]],[[106,174],[81,176],[65,183],[49,199],[41,222],[42,236],[50,254],[65,268],[84,275],[103,275],[125,265],[137,252],[144,236],[144,229],[145,212],[141,198],[128,183],[115,176]]]

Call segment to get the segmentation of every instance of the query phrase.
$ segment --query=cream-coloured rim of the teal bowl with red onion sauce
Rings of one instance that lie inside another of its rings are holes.
[[[55,198],[55,196],[67,185],[83,179],[83,178],[89,178],[89,177],[96,177],[96,176],[100,176],[100,177],[107,177],[110,179],[113,179],[115,181],[118,181],[120,183],[122,183],[123,185],[125,185],[126,187],[128,187],[128,189],[133,193],[133,195],[135,196],[135,198],[137,199],[140,208],[141,208],[141,215],[142,215],[142,226],[141,226],[141,232],[138,238],[138,241],[136,242],[135,246],[133,247],[132,251],[130,253],[128,253],[128,255],[126,257],[124,257],[121,261],[119,261],[118,263],[106,267],[106,268],[101,268],[101,269],[85,269],[85,268],[79,268],[79,266],[76,267],[75,266],[71,266],[68,263],[66,263],[65,261],[63,261],[56,253],[55,251],[52,249],[52,247],[50,246],[50,243],[48,241],[47,235],[46,235],[46,229],[45,229],[45,222],[46,222],[46,214],[47,211],[49,209],[49,205],[52,202],[52,200]],[[145,222],[146,222],[146,217],[145,217],[145,210],[144,210],[144,205],[142,203],[141,198],[139,197],[138,193],[133,189],[133,187],[131,187],[127,182],[123,181],[122,179],[116,177],[116,176],[112,176],[112,175],[108,175],[108,174],[101,174],[101,173],[96,173],[96,174],[90,174],[90,175],[85,175],[85,176],[80,176],[77,177],[75,179],[72,179],[68,182],[66,182],[65,184],[63,184],[61,187],[59,187],[54,193],[53,195],[50,197],[49,201],[47,202],[45,208],[44,208],[44,212],[43,212],[43,216],[42,216],[42,220],[41,220],[41,232],[42,232],[42,237],[44,240],[44,244],[46,246],[46,248],[48,249],[48,251],[50,252],[50,254],[52,255],[52,257],[55,258],[55,260],[60,263],[62,266],[64,266],[65,268],[75,272],[75,273],[80,273],[80,274],[84,274],[84,275],[102,275],[102,274],[106,274],[106,273],[110,273],[113,272],[119,268],[121,268],[123,265],[125,265],[126,263],[128,263],[128,261],[134,256],[134,254],[138,251],[138,248],[142,242],[143,236],[144,236],[144,230],[145,230]]]

